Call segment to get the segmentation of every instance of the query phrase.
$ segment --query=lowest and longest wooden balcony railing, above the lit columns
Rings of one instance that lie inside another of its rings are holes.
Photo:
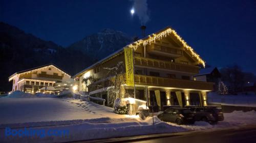
[[[137,74],[135,75],[135,84],[182,89],[214,90],[214,83],[212,82],[174,79]]]

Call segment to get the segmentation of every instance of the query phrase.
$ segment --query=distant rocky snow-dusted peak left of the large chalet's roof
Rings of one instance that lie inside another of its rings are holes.
[[[97,61],[131,42],[132,38],[125,33],[106,28],[84,37],[67,48],[80,50],[86,54],[90,53],[91,58]]]

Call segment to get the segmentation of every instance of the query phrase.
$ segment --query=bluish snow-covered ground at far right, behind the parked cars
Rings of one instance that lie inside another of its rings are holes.
[[[216,92],[210,92],[207,96],[207,99],[209,103],[256,107],[255,93],[249,93],[248,95],[241,93],[238,95],[218,95]]]

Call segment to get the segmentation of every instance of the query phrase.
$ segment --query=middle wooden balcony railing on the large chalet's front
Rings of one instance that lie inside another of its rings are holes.
[[[166,69],[166,70],[175,70],[175,71],[188,72],[193,74],[199,73],[199,67],[197,66],[183,65],[183,64],[172,63],[172,62],[161,61],[161,60],[150,59],[150,58],[143,58],[138,56],[135,56],[134,59],[135,59],[135,65],[137,66],[160,68],[160,69]]]

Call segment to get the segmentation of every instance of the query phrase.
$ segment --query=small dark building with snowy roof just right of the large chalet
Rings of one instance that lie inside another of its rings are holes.
[[[218,84],[221,81],[221,73],[217,67],[201,69],[199,74],[194,75],[196,81],[214,82],[214,91],[218,91]]]

